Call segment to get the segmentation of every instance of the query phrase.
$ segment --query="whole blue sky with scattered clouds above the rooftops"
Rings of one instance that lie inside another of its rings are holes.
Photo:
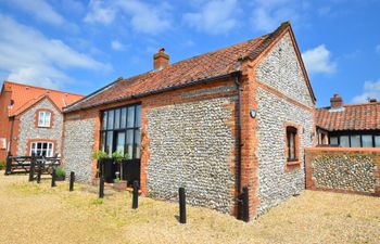
[[[88,94],[152,69],[161,47],[174,63],[289,20],[318,106],[380,100],[379,13],[378,0],[0,0],[0,79]]]

